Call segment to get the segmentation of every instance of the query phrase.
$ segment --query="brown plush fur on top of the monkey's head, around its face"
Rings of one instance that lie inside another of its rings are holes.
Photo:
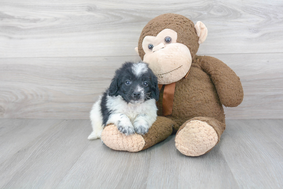
[[[176,42],[186,45],[191,51],[191,56],[194,57],[199,47],[199,37],[196,34],[194,26],[194,23],[190,19],[180,14],[168,13],[153,18],[144,27],[139,37],[139,56],[142,60],[144,59],[145,53],[142,48],[142,41],[145,36],[157,36],[163,29],[172,29],[178,33]]]

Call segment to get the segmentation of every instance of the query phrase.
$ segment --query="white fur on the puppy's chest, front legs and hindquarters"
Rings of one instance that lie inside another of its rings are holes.
[[[101,96],[92,106],[90,119],[93,131],[88,136],[89,140],[101,138],[103,130],[100,111]],[[106,124],[114,123],[116,126],[130,130],[131,134],[140,130],[147,130],[156,121],[157,107],[154,99],[132,104],[125,102],[121,96],[107,96],[107,108],[113,113]]]

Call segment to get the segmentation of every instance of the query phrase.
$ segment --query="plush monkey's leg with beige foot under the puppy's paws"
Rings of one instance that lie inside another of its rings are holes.
[[[120,133],[117,126],[109,124],[103,129],[101,139],[111,149],[136,152],[165,140],[172,134],[172,128],[176,125],[174,121],[158,116],[144,136],[137,133],[126,136]]]

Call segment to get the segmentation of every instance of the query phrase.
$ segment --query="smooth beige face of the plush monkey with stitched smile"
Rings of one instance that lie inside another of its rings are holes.
[[[177,32],[164,29],[157,36],[146,36],[142,42],[144,62],[158,78],[159,84],[169,84],[183,78],[191,67],[189,48],[177,43]]]

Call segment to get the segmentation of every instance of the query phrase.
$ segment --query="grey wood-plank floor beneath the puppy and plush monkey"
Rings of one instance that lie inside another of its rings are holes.
[[[227,120],[199,157],[173,135],[131,153],[90,132],[85,119],[0,119],[0,188],[283,188],[283,120]]]

